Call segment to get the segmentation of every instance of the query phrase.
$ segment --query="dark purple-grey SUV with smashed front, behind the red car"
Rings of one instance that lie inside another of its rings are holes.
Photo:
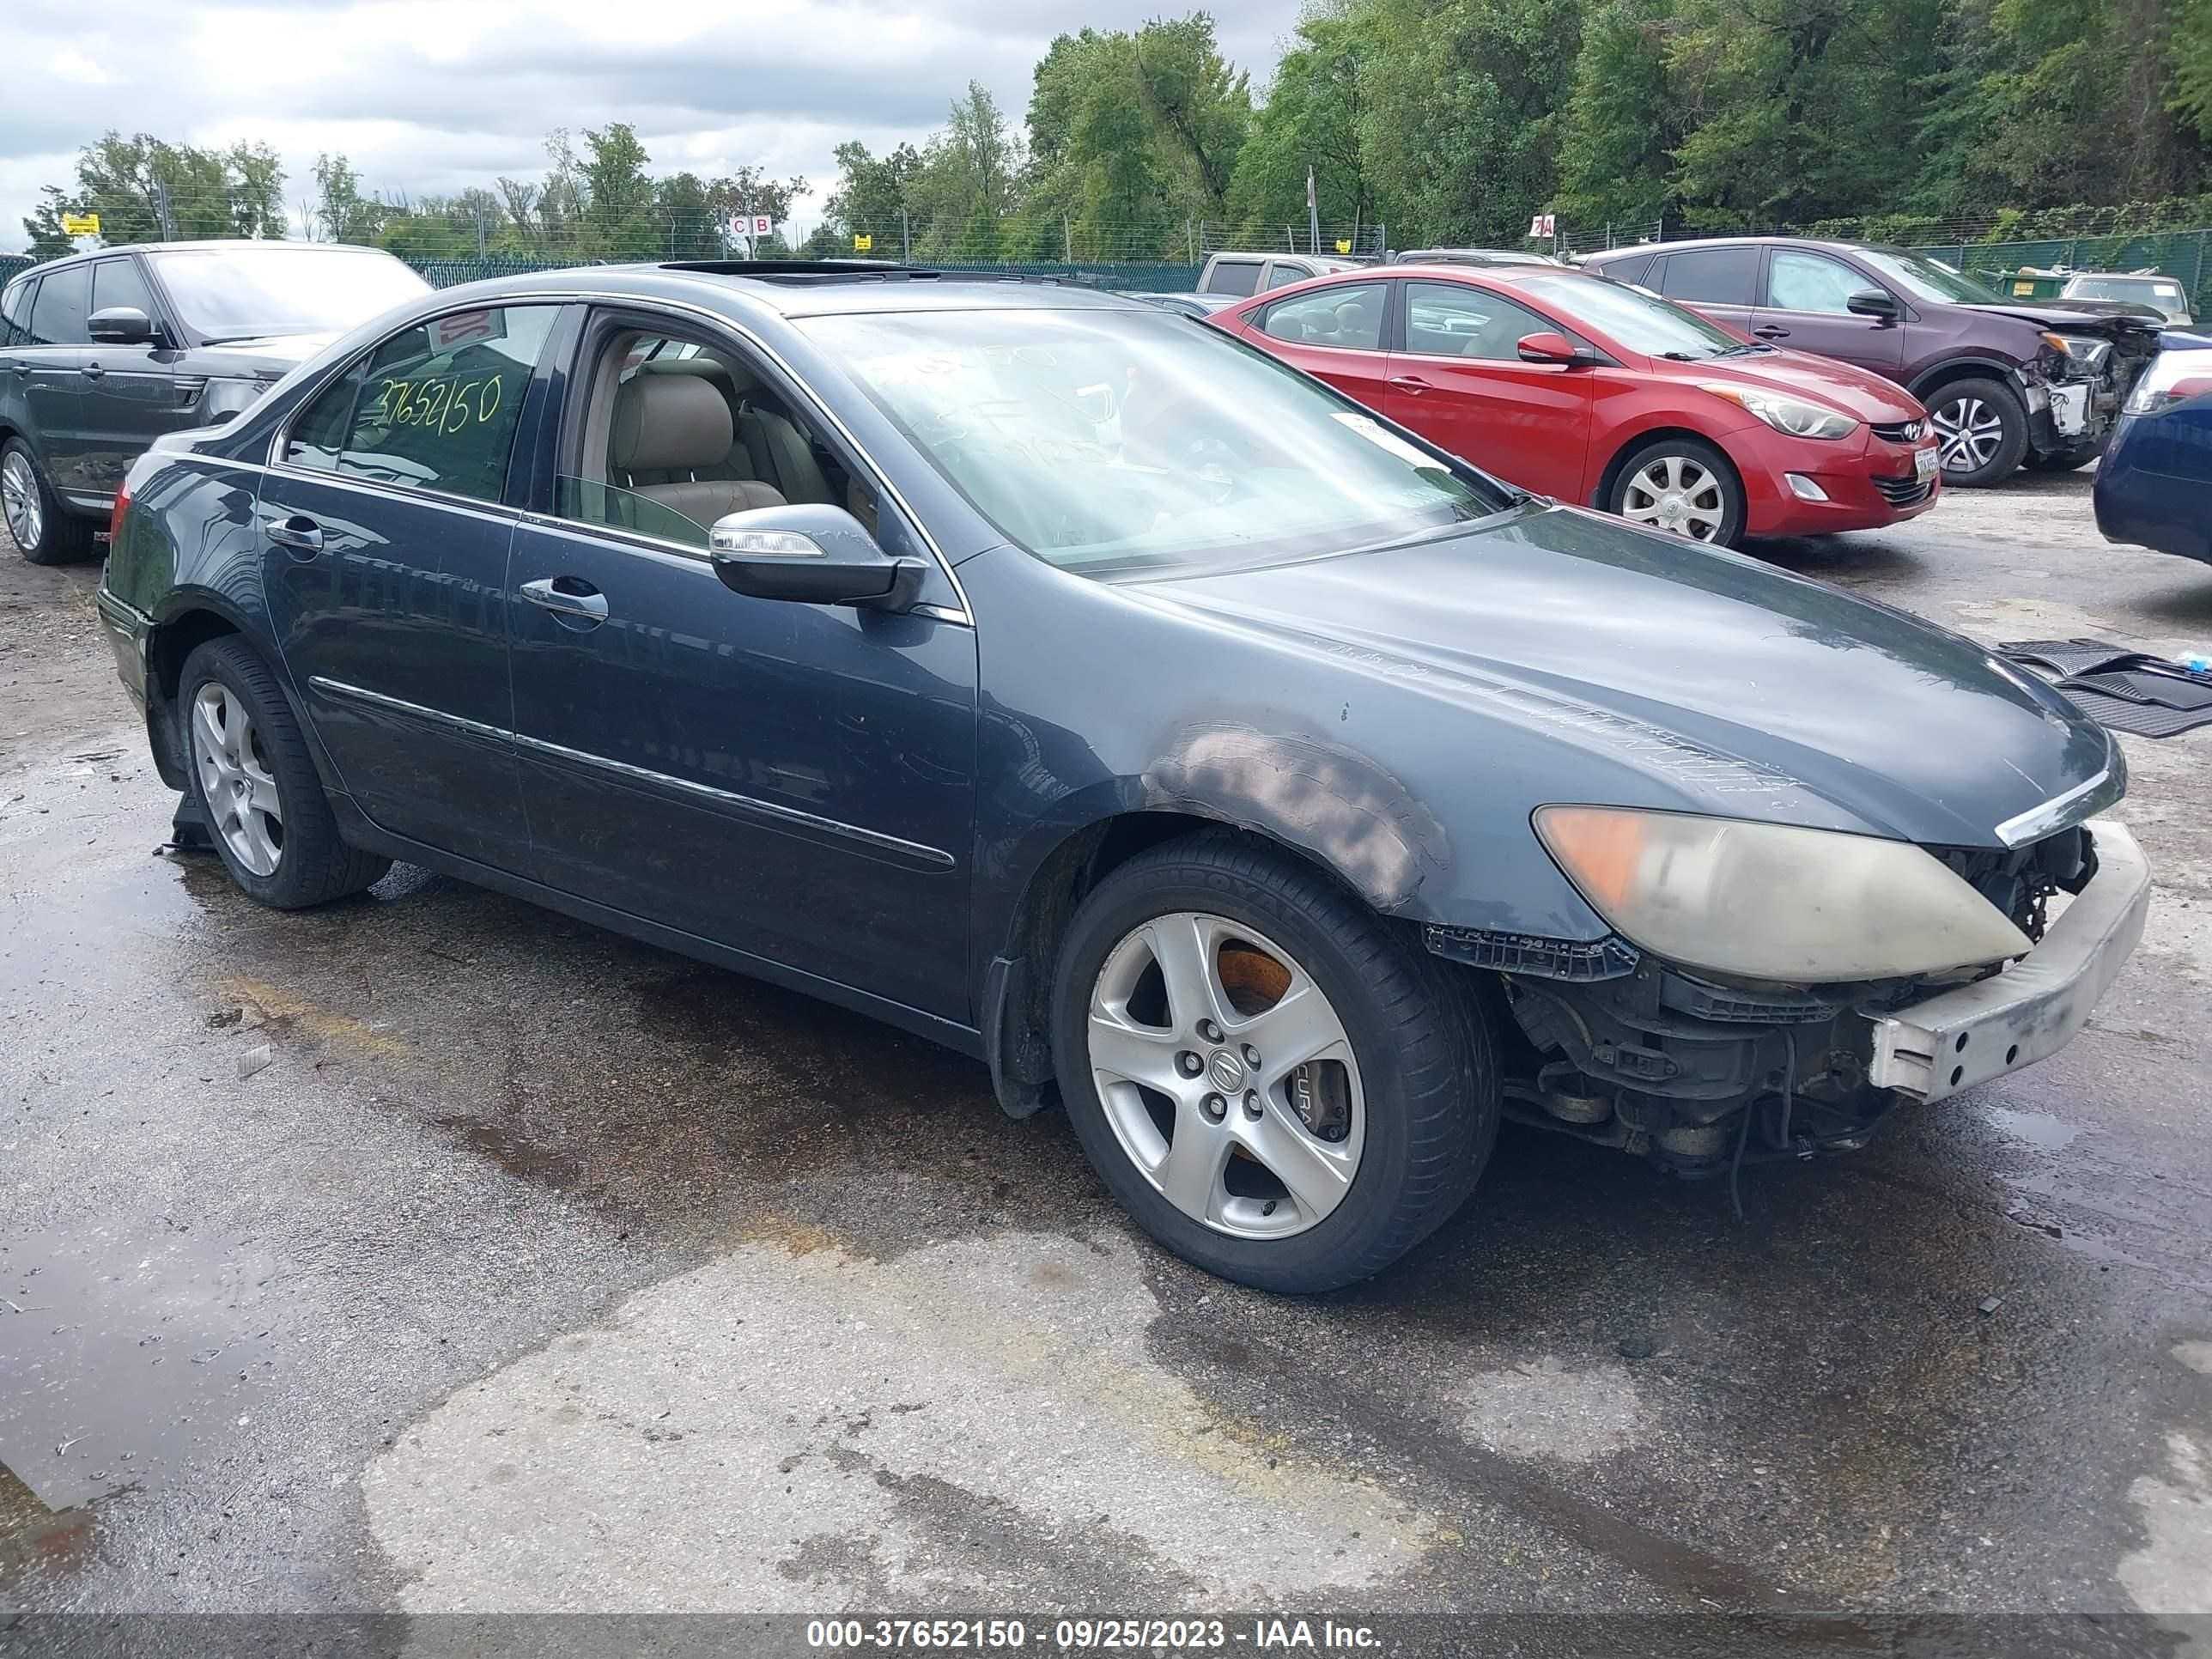
[[[1947,484],[2095,460],[2157,325],[2095,303],[2017,303],[1949,265],[1854,241],[1734,237],[1590,254],[1588,270],[1754,338],[1843,358],[1920,398]]]

